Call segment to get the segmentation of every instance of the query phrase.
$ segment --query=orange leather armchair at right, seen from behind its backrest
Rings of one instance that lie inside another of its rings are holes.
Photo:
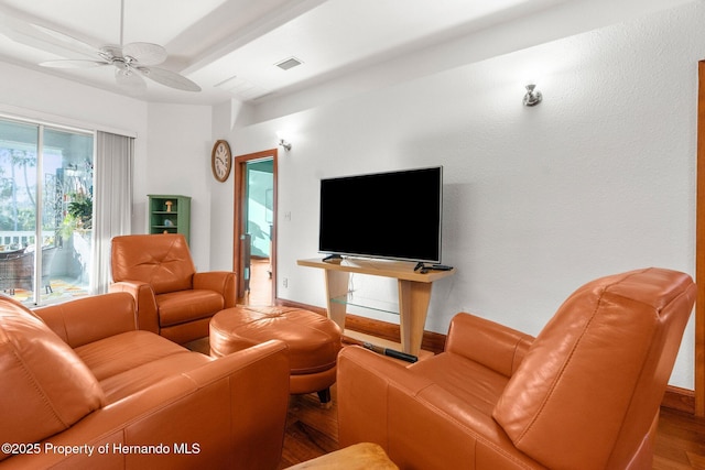
[[[647,269],[581,287],[535,339],[458,314],[445,351],[408,367],[345,348],[340,446],[401,469],[650,469],[695,291]]]

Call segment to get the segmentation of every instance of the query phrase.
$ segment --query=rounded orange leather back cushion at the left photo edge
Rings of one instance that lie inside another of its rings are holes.
[[[29,309],[0,298],[0,441],[36,442],[100,408],[86,364]],[[8,456],[0,455],[0,460]]]

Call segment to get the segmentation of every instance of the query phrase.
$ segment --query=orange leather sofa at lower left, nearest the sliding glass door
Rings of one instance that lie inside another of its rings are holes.
[[[138,330],[126,293],[0,296],[0,469],[276,469],[289,369],[281,341],[212,359]]]

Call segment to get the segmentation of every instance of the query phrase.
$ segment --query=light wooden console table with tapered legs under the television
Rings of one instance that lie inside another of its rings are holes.
[[[414,356],[419,356],[421,350],[433,282],[455,273],[455,270],[451,270],[430,271],[422,274],[414,271],[414,263],[403,261],[345,259],[324,262],[322,259],[312,259],[299,260],[297,264],[325,270],[328,318],[338,324],[344,334],[351,338],[357,338],[358,335],[354,331],[345,331],[347,310],[345,298],[348,294],[350,273],[395,278],[399,287],[400,346],[403,352]],[[362,338],[362,340],[368,339]]]

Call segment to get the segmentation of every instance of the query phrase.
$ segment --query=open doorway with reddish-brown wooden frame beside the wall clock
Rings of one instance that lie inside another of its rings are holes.
[[[270,305],[276,296],[276,149],[235,157],[238,303]]]

